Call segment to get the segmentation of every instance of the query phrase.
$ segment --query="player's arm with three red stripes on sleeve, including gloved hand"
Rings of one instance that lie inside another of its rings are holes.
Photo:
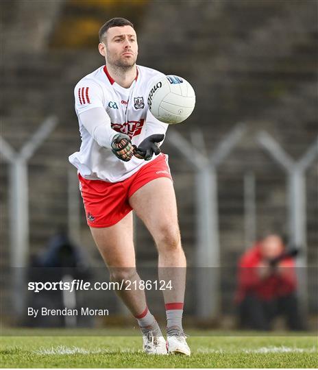
[[[103,108],[103,92],[94,82],[77,84],[75,106],[81,123],[100,147],[112,149],[117,158],[127,162],[134,154],[130,137],[112,130],[110,116]]]

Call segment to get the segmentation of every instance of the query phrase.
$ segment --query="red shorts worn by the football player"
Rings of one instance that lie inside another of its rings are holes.
[[[132,210],[128,199],[141,186],[158,177],[168,177],[172,180],[167,158],[161,153],[158,158],[145,164],[134,175],[121,182],[86,180],[78,174],[88,226],[114,225]]]

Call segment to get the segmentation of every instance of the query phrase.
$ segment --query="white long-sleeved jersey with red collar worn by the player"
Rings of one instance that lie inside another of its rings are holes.
[[[74,90],[75,111],[82,145],[69,156],[69,161],[82,177],[119,182],[149,162],[134,156],[123,162],[112,153],[111,143],[119,132],[130,136],[137,147],[149,135],[165,134],[168,125],[158,121],[147,104],[151,81],[160,75],[163,76],[154,69],[137,66],[132,86],[123,88],[110,77],[106,66],[101,66],[78,82]],[[95,118],[94,112],[101,112],[102,122]]]

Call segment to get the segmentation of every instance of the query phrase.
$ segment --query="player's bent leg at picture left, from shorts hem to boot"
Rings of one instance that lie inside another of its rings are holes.
[[[132,212],[121,221],[110,227],[90,227],[97,248],[110,271],[113,282],[123,282],[123,288],[117,294],[130,312],[138,320],[143,332],[143,349],[147,354],[167,354],[166,342],[156,319],[147,309],[145,291],[125,289],[130,282],[140,277],[136,271],[135,251],[133,244]],[[130,287],[134,286],[130,284]]]

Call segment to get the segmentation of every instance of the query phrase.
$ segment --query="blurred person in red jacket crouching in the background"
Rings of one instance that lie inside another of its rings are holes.
[[[286,254],[280,236],[266,236],[238,262],[236,301],[241,326],[269,330],[272,319],[282,314],[291,330],[302,330],[296,289],[295,260]]]

